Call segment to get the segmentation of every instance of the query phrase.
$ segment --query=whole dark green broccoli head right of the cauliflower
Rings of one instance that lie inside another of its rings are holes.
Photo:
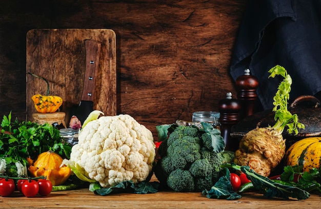
[[[161,158],[154,173],[160,185],[176,192],[209,190],[223,163],[222,155],[213,151],[212,137],[194,126],[176,127],[158,148]]]

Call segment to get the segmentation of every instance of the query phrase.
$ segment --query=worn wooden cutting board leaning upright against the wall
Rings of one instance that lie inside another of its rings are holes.
[[[63,98],[59,109],[66,113],[81,101],[85,79],[85,39],[101,43],[98,73],[95,75],[94,110],[116,115],[116,37],[110,29],[39,29],[27,33],[27,73],[46,78],[50,95]],[[27,120],[36,112],[31,97],[46,95],[44,80],[27,74]]]

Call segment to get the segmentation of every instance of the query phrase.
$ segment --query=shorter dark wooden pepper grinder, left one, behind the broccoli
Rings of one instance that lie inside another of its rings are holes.
[[[232,98],[232,93],[226,94],[226,99],[218,102],[220,135],[224,138],[225,150],[235,152],[238,149],[238,139],[231,137],[231,127],[239,121],[240,103]]]

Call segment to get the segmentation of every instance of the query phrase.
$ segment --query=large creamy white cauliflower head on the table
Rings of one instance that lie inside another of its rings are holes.
[[[103,187],[146,180],[155,158],[153,135],[130,115],[88,122],[72,147],[70,160]]]

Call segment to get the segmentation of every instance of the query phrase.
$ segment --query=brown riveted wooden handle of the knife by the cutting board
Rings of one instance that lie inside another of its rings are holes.
[[[86,39],[86,71],[82,100],[93,101],[95,90],[95,73],[99,65],[99,54],[101,52],[101,44],[94,40]]]

